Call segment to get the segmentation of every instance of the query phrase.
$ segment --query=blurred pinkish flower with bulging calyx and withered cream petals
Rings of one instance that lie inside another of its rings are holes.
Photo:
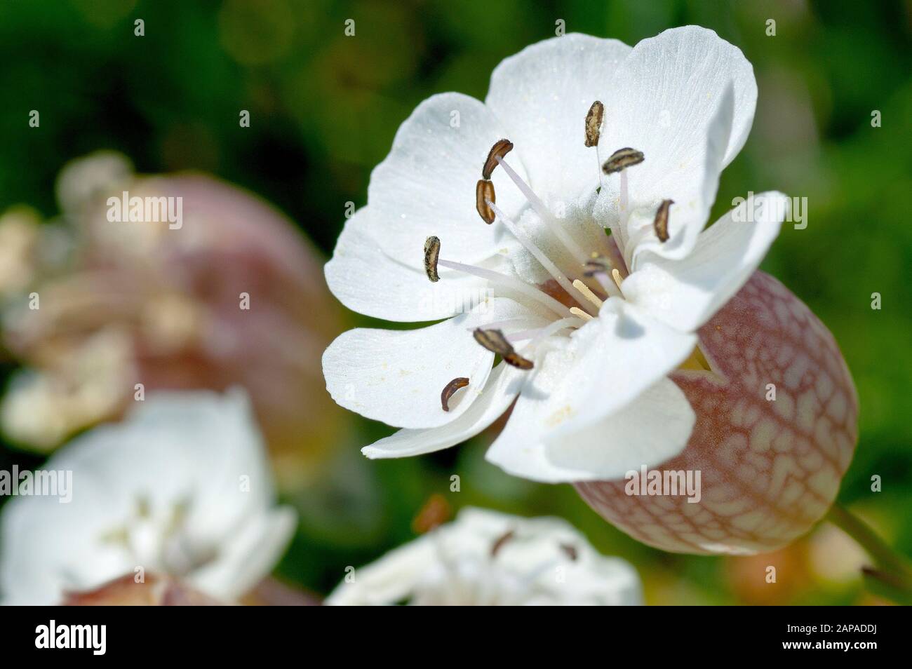
[[[181,201],[181,228],[109,221],[124,192]],[[319,352],[344,324],[293,222],[223,181],[134,174],[110,151],[67,163],[57,199],[59,224],[26,224],[21,208],[0,219],[0,339],[25,366],[2,399],[6,436],[47,452],[119,417],[136,383],[242,386],[280,483],[316,478],[344,428]]]

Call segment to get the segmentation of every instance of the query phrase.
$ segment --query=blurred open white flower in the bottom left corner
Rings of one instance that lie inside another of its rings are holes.
[[[50,458],[72,499],[16,497],[0,518],[0,598],[56,604],[137,568],[231,601],[272,571],[295,527],[274,506],[246,396],[149,396]]]

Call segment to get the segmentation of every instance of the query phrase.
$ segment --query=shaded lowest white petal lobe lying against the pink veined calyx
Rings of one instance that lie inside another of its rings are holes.
[[[627,471],[656,467],[677,456],[695,421],[687,397],[663,378],[610,416],[547,437],[545,457],[580,472],[579,480],[620,479]]]

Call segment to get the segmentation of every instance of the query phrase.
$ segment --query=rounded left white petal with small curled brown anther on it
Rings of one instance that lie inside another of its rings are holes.
[[[444,411],[444,386],[464,376],[469,387],[483,387],[491,373],[493,354],[475,342],[472,329],[514,319],[523,319],[521,329],[544,324],[523,305],[492,298],[468,314],[417,330],[349,330],[323,355],[326,389],[342,407],[395,427],[450,423],[475,396],[461,390]]]

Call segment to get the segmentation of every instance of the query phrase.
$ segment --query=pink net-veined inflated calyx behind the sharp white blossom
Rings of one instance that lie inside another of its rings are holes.
[[[672,375],[697,423],[687,448],[654,468],[700,470],[700,501],[628,495],[625,480],[576,489],[613,525],[664,551],[772,551],[836,497],[857,437],[852,377],[824,324],[761,272],[700,328],[700,346],[716,378]]]

